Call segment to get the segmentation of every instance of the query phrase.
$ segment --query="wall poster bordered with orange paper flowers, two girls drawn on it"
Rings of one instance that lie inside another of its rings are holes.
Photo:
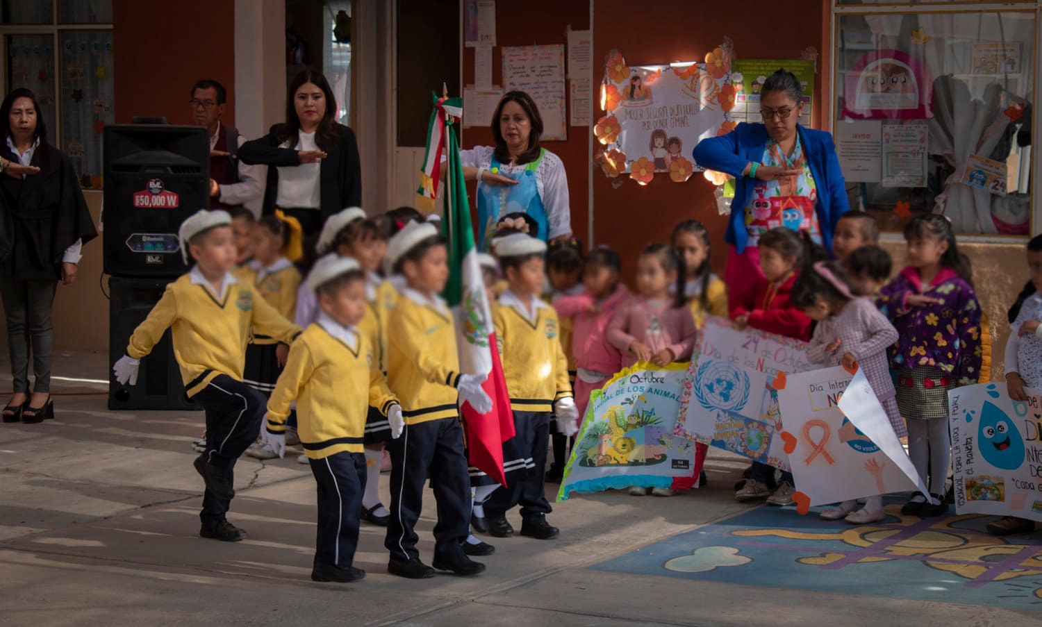
[[[665,66],[628,66],[613,50],[601,83],[604,112],[594,125],[610,164],[605,174],[628,172],[642,185],[656,175],[688,180],[696,169],[692,149],[729,128],[736,94],[727,46],[711,51],[704,61]]]

